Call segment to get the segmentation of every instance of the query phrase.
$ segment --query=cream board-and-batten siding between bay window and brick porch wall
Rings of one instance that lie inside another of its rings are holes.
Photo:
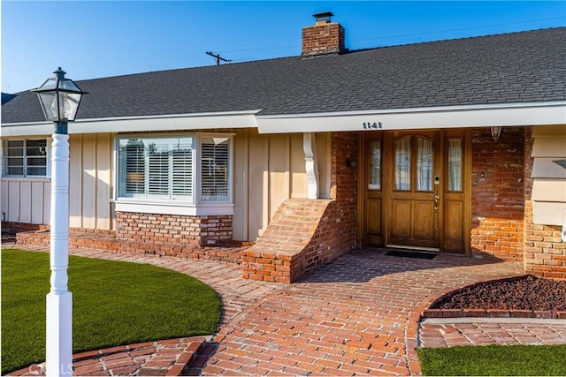
[[[330,195],[330,137],[317,133],[318,197]],[[285,200],[307,198],[302,133],[259,134],[237,130],[234,137],[233,239],[255,241]]]

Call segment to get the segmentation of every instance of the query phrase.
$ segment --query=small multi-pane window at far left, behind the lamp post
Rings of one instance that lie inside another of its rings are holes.
[[[46,177],[47,139],[4,140],[4,177]]]

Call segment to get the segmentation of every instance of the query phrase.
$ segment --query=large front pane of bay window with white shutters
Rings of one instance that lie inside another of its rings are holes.
[[[119,139],[119,196],[190,200],[193,138]]]

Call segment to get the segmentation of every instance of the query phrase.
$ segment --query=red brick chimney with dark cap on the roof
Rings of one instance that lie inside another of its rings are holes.
[[[313,14],[317,20],[314,26],[302,28],[302,57],[341,54],[344,48],[344,27],[331,22],[333,13],[325,11]]]

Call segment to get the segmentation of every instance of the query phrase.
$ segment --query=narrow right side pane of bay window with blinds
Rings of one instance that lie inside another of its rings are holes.
[[[201,143],[201,200],[230,200],[230,139],[203,138]]]

